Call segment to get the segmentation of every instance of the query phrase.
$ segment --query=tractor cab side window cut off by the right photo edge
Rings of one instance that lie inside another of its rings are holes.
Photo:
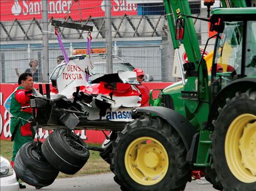
[[[256,75],[256,21],[247,22],[245,75]]]

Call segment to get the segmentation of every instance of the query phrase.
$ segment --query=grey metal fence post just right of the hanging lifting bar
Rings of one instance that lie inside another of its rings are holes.
[[[107,61],[107,73],[113,73],[112,65],[112,34],[111,34],[111,1],[105,0],[105,26],[106,26],[106,61]]]

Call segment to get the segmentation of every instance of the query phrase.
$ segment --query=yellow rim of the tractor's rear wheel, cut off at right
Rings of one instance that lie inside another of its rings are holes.
[[[256,116],[242,114],[230,124],[225,156],[233,175],[244,183],[256,182]]]

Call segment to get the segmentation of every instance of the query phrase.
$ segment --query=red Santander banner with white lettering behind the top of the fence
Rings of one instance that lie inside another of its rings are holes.
[[[73,20],[87,20],[91,17],[105,16],[104,0],[48,0],[48,18],[71,17]],[[137,15],[137,4],[131,0],[111,0],[111,15]],[[81,10],[81,15],[80,15]],[[41,0],[1,0],[0,21],[41,20]]]

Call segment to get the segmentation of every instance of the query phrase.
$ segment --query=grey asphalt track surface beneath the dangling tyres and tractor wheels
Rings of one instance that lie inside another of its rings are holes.
[[[114,174],[94,174],[82,177],[56,179],[52,185],[36,190],[27,185],[20,191],[120,191],[119,185],[113,180]],[[216,191],[210,184],[198,184],[195,180],[187,183],[185,191]]]

